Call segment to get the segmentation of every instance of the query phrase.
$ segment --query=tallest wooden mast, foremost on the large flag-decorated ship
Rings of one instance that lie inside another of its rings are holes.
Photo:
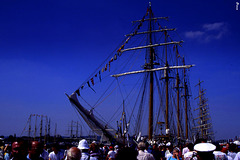
[[[149,45],[152,45],[152,8],[149,2]],[[153,47],[150,47],[150,69],[153,69]],[[150,95],[149,95],[149,122],[148,122],[148,138],[152,139],[153,134],[153,72],[150,72]]]

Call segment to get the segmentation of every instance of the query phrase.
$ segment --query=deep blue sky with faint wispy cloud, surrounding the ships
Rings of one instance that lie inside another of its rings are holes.
[[[216,138],[240,135],[240,10],[237,1],[152,1],[177,28],[190,79],[207,89]],[[30,114],[58,132],[78,117],[64,93],[86,80],[141,19],[148,1],[0,2],[0,135],[20,135]],[[193,92],[196,88],[192,87]]]

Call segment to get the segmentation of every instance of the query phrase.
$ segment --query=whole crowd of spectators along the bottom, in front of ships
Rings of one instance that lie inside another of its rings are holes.
[[[43,145],[38,141],[18,139],[12,144],[2,144],[0,160],[240,160],[237,145],[225,146],[196,141],[184,146],[171,143],[149,145],[139,142],[136,145],[102,145],[93,141],[91,144],[82,139],[77,146]]]

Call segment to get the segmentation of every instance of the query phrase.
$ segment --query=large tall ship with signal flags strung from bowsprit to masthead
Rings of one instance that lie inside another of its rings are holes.
[[[71,95],[71,104],[96,134],[127,143],[194,140],[189,71],[183,40],[151,3],[133,29]]]

